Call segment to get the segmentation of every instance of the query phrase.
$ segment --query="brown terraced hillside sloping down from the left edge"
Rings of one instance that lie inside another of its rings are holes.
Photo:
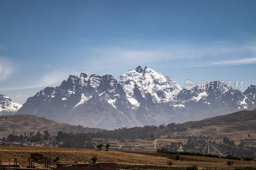
[[[5,115],[3,119],[0,119],[0,137],[7,137],[13,131],[15,135],[24,135],[24,132],[29,135],[30,132],[40,131],[43,133],[44,130],[48,130],[51,135],[57,135],[58,131],[92,132],[100,129],[86,129],[28,114]]]

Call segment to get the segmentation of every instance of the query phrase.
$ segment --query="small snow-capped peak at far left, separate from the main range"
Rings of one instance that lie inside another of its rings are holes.
[[[12,102],[10,97],[0,94],[0,116],[13,115],[20,109],[22,105]]]

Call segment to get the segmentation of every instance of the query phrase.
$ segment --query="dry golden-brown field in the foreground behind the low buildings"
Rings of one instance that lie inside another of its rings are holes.
[[[60,156],[61,162],[89,162],[93,156],[98,158],[97,162],[116,162],[123,164],[148,164],[148,165],[167,165],[171,155],[156,152],[139,152],[139,151],[98,151],[93,149],[75,149],[75,148],[47,148],[47,147],[28,147],[28,146],[0,146],[0,155],[3,161],[18,160],[28,165],[27,159],[30,152],[37,152],[50,157],[52,160]],[[173,168],[185,168],[186,166],[197,165],[199,168],[207,169],[230,169],[226,162],[228,159],[198,157],[198,156],[181,156],[184,160],[173,162]],[[252,166],[256,167],[254,161],[233,160],[232,168]],[[21,162],[21,164],[22,164]],[[40,165],[38,165],[40,166]],[[43,166],[43,165],[41,165]],[[54,166],[54,165],[52,165]]]

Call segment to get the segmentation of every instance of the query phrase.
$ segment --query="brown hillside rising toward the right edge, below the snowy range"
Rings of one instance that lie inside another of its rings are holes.
[[[223,142],[223,137],[234,140],[235,144],[244,142],[246,146],[256,145],[256,111],[244,110],[228,115],[207,118],[201,121],[190,121],[181,124],[188,127],[183,132],[167,132],[157,140],[157,145],[171,141],[187,143],[187,136],[203,135],[212,137],[212,141]],[[250,137],[248,136],[250,134]],[[169,135],[168,138],[166,138]],[[159,146],[159,147],[160,147]]]

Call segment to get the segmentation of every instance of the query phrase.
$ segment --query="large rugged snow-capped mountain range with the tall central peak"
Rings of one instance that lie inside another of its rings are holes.
[[[81,73],[37,92],[17,114],[115,129],[201,120],[256,107],[255,85],[242,93],[219,81],[210,84],[182,89],[172,77],[140,66],[117,79]]]

